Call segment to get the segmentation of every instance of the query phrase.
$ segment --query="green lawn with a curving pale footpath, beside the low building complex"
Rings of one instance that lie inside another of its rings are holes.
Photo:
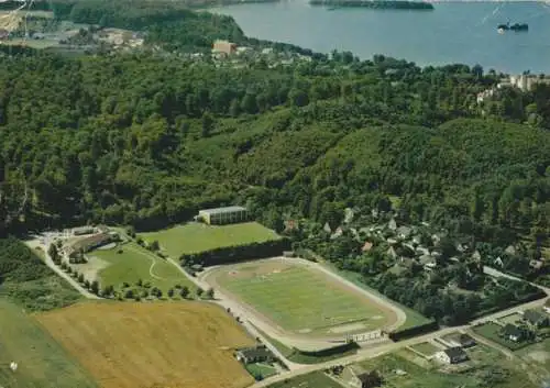
[[[123,253],[119,254],[119,250]],[[124,281],[134,286],[142,279],[143,282],[148,281],[152,287],[160,288],[164,295],[176,285],[195,289],[193,282],[173,264],[133,242],[112,250],[96,250],[88,256],[96,256],[110,264],[99,273],[101,287],[112,285],[120,289]]]

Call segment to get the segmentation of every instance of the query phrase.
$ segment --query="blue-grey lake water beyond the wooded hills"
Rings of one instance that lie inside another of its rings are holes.
[[[481,64],[505,73],[550,73],[550,4],[436,3],[433,11],[311,7],[307,0],[230,5],[248,36],[293,43],[316,52],[384,54],[418,65]],[[501,23],[529,23],[529,32],[498,34]]]

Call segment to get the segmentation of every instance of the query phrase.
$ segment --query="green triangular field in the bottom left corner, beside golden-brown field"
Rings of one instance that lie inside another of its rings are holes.
[[[18,363],[18,370],[9,368]],[[21,307],[0,299],[0,387],[91,388],[91,376]]]

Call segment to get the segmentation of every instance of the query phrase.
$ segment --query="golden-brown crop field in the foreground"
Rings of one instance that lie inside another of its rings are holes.
[[[254,341],[216,306],[85,302],[38,321],[105,388],[240,388],[232,350]]]

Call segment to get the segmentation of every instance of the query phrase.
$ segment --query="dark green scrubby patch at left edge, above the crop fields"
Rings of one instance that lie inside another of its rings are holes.
[[[80,298],[15,239],[0,239],[0,296],[31,311],[64,307]]]

